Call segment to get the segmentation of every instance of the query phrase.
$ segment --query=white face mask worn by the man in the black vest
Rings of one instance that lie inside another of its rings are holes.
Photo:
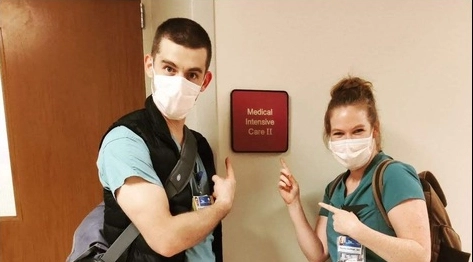
[[[180,76],[154,74],[153,101],[159,111],[169,119],[181,120],[195,105],[200,86]]]

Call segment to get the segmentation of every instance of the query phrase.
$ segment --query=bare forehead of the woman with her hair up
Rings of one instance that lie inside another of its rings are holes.
[[[368,111],[364,106],[340,106],[334,108],[330,117],[332,130],[350,130],[356,126],[369,126]]]

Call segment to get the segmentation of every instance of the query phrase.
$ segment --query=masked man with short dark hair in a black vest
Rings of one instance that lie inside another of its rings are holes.
[[[119,261],[222,261],[220,222],[230,212],[236,184],[229,159],[227,176],[215,175],[207,140],[192,131],[198,176],[191,175],[185,189],[170,199],[163,186],[186,138],[186,115],[212,80],[211,51],[198,23],[186,18],[162,23],[144,59],[152,95],[144,109],[119,119],[103,137],[97,166],[104,187],[105,238],[115,241],[130,220],[141,233]],[[193,199],[208,196],[214,200],[193,208]]]

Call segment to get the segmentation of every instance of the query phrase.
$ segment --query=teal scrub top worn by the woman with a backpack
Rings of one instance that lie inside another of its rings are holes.
[[[328,192],[330,184],[325,188],[325,194],[323,202],[332,205],[336,208],[342,208],[344,206],[354,205],[366,205],[360,211],[356,213],[358,219],[366,226],[379,231],[381,233],[396,236],[394,230],[388,227],[383,219],[380,211],[376,206],[376,202],[373,197],[373,190],[371,187],[371,181],[373,178],[374,170],[376,166],[384,159],[390,158],[383,152],[378,153],[368,167],[365,170],[360,184],[350,195],[345,196],[346,186],[345,180],[348,176],[348,172],[344,174],[344,178],[336,186],[332,198],[329,199]],[[405,163],[394,162],[387,166],[383,176],[383,192],[382,202],[389,212],[393,207],[400,204],[401,202],[408,199],[424,199],[424,193],[422,186],[417,176],[416,170]],[[339,233],[333,229],[333,218],[332,213],[328,210],[321,208],[319,215],[328,217],[327,219],[327,241],[330,257],[332,261],[337,259],[337,238],[340,236]],[[366,260],[369,262],[384,261],[374,252],[366,248]]]

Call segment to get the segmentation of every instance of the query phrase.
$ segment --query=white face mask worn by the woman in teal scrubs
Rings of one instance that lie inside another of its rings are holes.
[[[367,138],[328,142],[332,155],[349,170],[356,170],[368,163],[373,151],[373,145],[373,134]]]

